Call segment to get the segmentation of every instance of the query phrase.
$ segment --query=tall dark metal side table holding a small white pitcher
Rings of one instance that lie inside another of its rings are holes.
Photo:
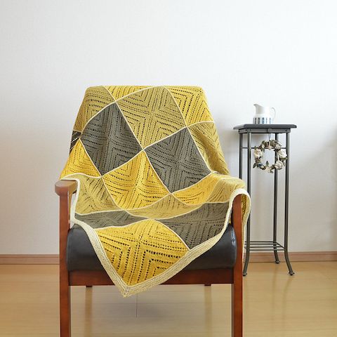
[[[274,251],[275,263],[279,263],[278,251],[284,251],[284,258],[289,270],[289,274],[293,275],[293,268],[288,255],[288,218],[289,218],[289,145],[291,128],[297,128],[294,124],[243,124],[234,126],[234,130],[239,131],[239,178],[242,178],[242,155],[243,150],[247,150],[247,191],[251,193],[251,134],[275,134],[275,140],[279,140],[279,134],[286,134],[286,177],[285,177],[285,207],[284,207],[284,246],[277,242],[277,178],[279,172],[275,170],[274,174],[274,219],[273,219],[273,237],[272,241],[251,241],[251,218],[249,216],[246,227],[246,259],[244,261],[244,276],[247,275],[247,267],[249,264],[249,256],[251,251]],[[244,134],[247,135],[246,146],[243,145]]]

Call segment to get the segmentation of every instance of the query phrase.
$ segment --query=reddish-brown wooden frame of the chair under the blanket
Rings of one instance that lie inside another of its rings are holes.
[[[60,336],[70,337],[70,287],[113,285],[105,271],[67,269],[67,235],[70,230],[70,203],[77,190],[76,181],[60,180],[55,192],[60,197]],[[232,284],[232,337],[242,337],[242,209],[241,196],[234,199],[231,226],[236,237],[234,267],[182,270],[164,284]]]

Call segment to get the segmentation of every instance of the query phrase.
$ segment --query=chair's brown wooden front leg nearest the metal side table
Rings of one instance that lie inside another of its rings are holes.
[[[232,284],[232,337],[243,336],[243,298],[242,298],[242,209],[241,196],[234,199],[232,225],[237,238],[237,260],[234,265]]]

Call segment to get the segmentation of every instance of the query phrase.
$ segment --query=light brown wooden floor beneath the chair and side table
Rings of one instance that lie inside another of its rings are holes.
[[[336,337],[337,262],[251,263],[245,337]],[[77,337],[230,336],[230,286],[157,286],[122,298],[114,286],[72,288]],[[58,266],[0,265],[0,336],[58,336]]]

